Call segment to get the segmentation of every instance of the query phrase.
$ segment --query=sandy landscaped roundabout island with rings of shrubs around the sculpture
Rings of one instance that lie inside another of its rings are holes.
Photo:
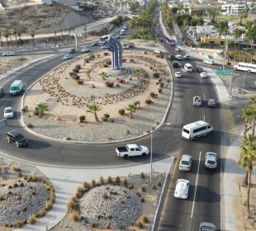
[[[168,64],[135,51],[124,53],[122,62],[122,69],[113,69],[110,53],[96,52],[60,64],[26,92],[26,126],[46,137],[87,144],[149,134],[163,120],[171,96]],[[35,112],[38,104],[47,105],[43,116]],[[98,107],[98,121],[90,106]]]

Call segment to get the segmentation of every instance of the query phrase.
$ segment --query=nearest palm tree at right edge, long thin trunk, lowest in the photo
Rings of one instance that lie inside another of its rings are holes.
[[[246,172],[248,172],[248,191],[247,191],[247,212],[248,217],[250,217],[249,210],[249,193],[251,188],[251,176],[253,171],[253,162],[256,160],[256,138],[252,134],[249,134],[247,138],[243,139],[243,144],[240,146],[240,158],[239,166],[244,167]]]

